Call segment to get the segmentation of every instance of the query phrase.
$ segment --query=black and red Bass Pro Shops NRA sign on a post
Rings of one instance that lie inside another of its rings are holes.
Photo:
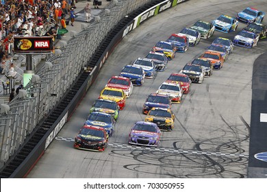
[[[15,36],[15,53],[52,53],[53,39],[50,36]]]

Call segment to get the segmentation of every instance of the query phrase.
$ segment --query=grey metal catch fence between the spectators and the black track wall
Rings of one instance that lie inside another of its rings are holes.
[[[62,47],[61,53],[49,58],[36,75],[40,80],[31,80],[25,91],[8,105],[1,105],[0,115],[0,167],[16,152],[49,111],[58,104],[71,84],[86,67],[101,41],[120,19],[152,0],[111,1],[99,14],[100,20],[75,34]],[[51,64],[50,64],[51,63]]]

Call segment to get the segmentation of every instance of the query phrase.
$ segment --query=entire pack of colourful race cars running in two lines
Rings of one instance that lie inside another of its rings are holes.
[[[214,69],[220,70],[234,45],[252,48],[257,46],[260,38],[266,38],[266,25],[261,24],[264,15],[255,8],[246,8],[236,18],[223,14],[212,23],[199,20],[191,27],[171,34],[167,40],[157,42],[145,58],[137,58],[133,64],[123,67],[118,76],[110,77],[75,137],[74,147],[103,152],[109,137],[116,130],[119,112],[125,108],[126,98],[131,96],[133,86],[142,86],[145,78],[154,78],[157,71],[165,71],[168,60],[173,60],[176,52],[186,52],[188,47],[198,45],[201,38],[210,38],[214,31],[236,31],[239,21],[248,23],[233,40],[216,38],[199,58],[188,62],[179,73],[171,73],[156,93],[149,94],[142,108],[147,117],[132,126],[128,143],[157,147],[161,132],[174,128],[175,115],[171,106],[181,103],[183,94],[190,92],[191,83],[201,84],[205,77],[212,75]]]

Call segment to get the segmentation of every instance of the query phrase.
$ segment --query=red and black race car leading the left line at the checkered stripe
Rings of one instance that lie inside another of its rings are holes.
[[[108,134],[104,128],[84,125],[77,136],[73,147],[90,151],[103,152],[107,147]]]

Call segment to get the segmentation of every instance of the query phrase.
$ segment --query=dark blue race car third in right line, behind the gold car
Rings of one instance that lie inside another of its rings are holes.
[[[151,93],[143,106],[143,113],[147,114],[153,107],[171,108],[171,101],[167,95]]]

